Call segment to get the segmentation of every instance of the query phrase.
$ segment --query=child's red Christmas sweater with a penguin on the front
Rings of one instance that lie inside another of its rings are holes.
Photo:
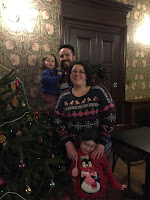
[[[122,185],[116,181],[105,154],[102,158],[91,158],[91,153],[84,154],[78,149],[76,189],[82,199],[95,199],[106,194],[107,183],[116,190],[121,190]],[[75,168],[76,161],[72,161],[70,174]]]

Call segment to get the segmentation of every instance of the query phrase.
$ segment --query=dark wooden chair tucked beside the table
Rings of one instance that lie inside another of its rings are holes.
[[[137,124],[117,124],[114,127],[114,134],[124,130],[130,130],[133,128],[138,128]],[[135,138],[136,139],[136,138]],[[120,158],[128,166],[128,193],[131,192],[131,178],[130,169],[131,166],[140,165],[145,162],[145,157],[126,146],[123,146],[119,142],[112,142],[112,152],[113,152],[113,162],[112,162],[112,172],[115,170],[115,166],[118,158]]]

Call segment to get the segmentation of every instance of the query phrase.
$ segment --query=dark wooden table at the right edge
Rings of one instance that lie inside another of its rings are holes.
[[[117,141],[129,148],[141,152],[146,157],[145,188],[143,200],[150,200],[150,127],[125,130],[112,135]]]

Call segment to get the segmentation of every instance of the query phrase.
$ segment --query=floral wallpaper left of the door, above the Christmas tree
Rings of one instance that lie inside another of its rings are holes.
[[[57,53],[59,46],[59,0],[31,0],[37,10],[33,32],[13,32],[0,16],[0,64],[16,68],[23,82],[30,107],[43,109],[41,94],[41,59]],[[0,74],[7,70],[0,66]],[[1,75],[2,76],[2,75]]]

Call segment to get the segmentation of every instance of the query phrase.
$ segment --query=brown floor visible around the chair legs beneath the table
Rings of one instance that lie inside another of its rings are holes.
[[[112,152],[109,157],[110,166],[112,165]],[[127,165],[118,158],[114,175],[120,184],[127,184]],[[138,166],[131,167],[131,194],[128,195],[127,189],[124,191],[117,191],[108,186],[109,200],[133,200],[140,199],[138,196],[143,194],[142,185],[145,182],[145,163]]]

